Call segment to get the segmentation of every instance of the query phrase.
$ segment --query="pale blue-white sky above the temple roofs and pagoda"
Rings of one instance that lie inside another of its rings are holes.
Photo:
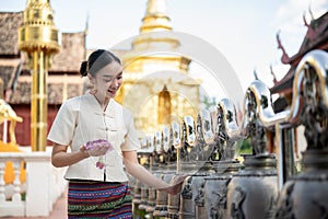
[[[147,0],[51,0],[55,25],[61,32],[81,32],[89,15],[87,48],[110,48],[139,34]],[[26,0],[0,0],[0,11],[23,11]],[[236,71],[244,90],[253,71],[272,85],[270,65],[278,79],[288,67],[280,61],[276,34],[290,56],[303,41],[309,20],[328,11],[327,0],[167,0],[174,31],[202,38],[218,48]],[[215,94],[214,94],[215,95]]]

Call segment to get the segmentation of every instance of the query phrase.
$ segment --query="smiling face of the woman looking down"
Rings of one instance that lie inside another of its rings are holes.
[[[113,61],[102,68],[93,78],[96,96],[101,99],[113,99],[122,83],[122,67]]]

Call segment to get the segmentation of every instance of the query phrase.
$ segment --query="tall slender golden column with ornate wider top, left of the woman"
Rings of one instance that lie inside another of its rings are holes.
[[[58,30],[49,0],[28,0],[24,23],[19,30],[19,46],[28,54],[32,69],[31,146],[45,151],[47,145],[47,78],[51,57],[59,51]]]

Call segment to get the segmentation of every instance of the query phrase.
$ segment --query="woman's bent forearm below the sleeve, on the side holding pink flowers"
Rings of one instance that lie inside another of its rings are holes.
[[[55,143],[52,147],[51,153],[51,163],[56,168],[63,168],[67,165],[74,164],[85,158],[89,158],[90,154],[85,151],[85,147],[82,146],[79,151],[68,153],[68,146],[62,146]]]

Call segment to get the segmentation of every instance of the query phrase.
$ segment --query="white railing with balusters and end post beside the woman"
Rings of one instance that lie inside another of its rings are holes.
[[[63,180],[66,169],[56,169],[50,152],[0,153],[0,217],[47,217],[55,201],[67,188]],[[3,180],[7,162],[12,162],[14,181]],[[25,163],[26,183],[21,183],[21,163]]]

